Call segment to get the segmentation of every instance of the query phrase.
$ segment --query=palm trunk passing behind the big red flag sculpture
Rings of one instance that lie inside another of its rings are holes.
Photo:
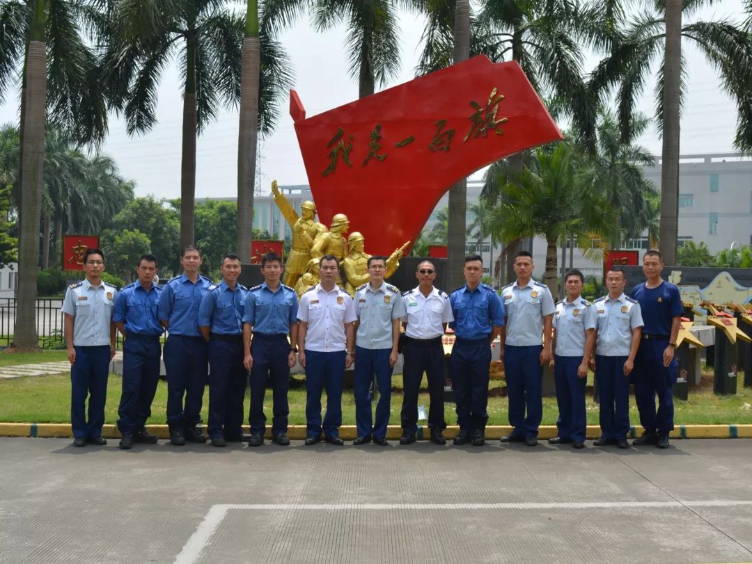
[[[470,0],[457,0],[454,11],[454,62],[470,58]],[[449,226],[447,230],[447,258],[450,288],[459,288],[465,278],[465,221],[467,210],[467,180],[462,179],[449,189]]]

